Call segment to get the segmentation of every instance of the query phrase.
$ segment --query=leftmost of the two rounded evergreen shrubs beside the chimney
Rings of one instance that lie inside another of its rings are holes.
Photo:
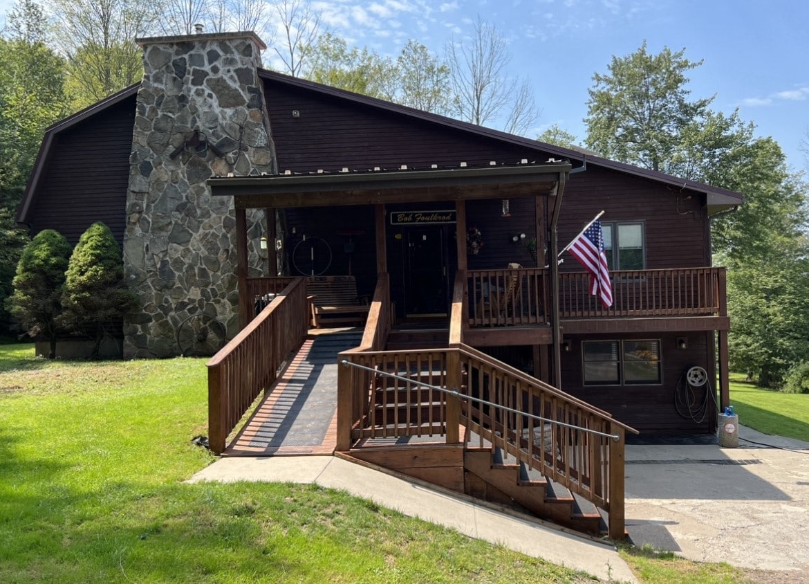
[[[57,316],[70,258],[70,244],[53,229],[36,234],[19,258],[14,293],[6,304],[12,318],[32,337],[50,340],[49,357],[56,356]]]

